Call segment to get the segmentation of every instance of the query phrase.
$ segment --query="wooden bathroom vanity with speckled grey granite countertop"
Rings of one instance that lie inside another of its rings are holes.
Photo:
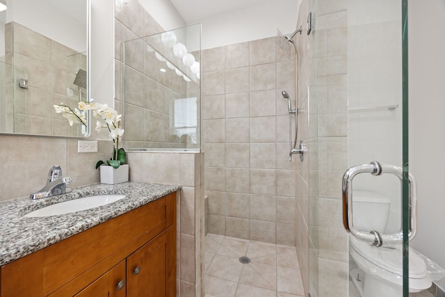
[[[5,225],[2,225],[0,230],[0,259],[8,261],[0,268],[1,297],[176,295],[179,186],[124,183],[98,184],[96,191],[94,188],[89,186],[83,192],[122,193],[127,198],[104,207],[44,218],[23,218],[36,205],[18,201],[26,205],[16,211],[15,219],[10,218],[7,226],[20,225],[9,231],[3,230]],[[94,223],[92,216],[97,218]],[[67,229],[71,224],[76,227]],[[48,231],[51,228],[52,234]],[[10,243],[8,247],[3,239],[20,229],[22,234],[15,235],[20,236],[19,242],[26,240],[29,245],[19,247]],[[42,230],[42,237],[32,239],[39,236],[33,234],[36,230]],[[42,242],[43,248],[39,246]],[[29,255],[20,257],[19,250]]]

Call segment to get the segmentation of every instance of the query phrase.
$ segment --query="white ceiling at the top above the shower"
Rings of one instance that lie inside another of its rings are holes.
[[[186,21],[195,24],[202,19],[222,15],[270,0],[170,0]]]

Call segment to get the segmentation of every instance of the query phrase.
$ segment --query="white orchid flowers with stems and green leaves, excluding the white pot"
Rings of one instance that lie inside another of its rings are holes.
[[[119,138],[124,134],[124,129],[120,127],[122,115],[118,114],[115,109],[109,107],[107,104],[99,104],[92,102],[80,101],[77,108],[72,109],[63,103],[54,105],[56,113],[61,113],[70,126],[74,125],[74,122],[79,122],[81,125],[88,126],[86,120],[86,113],[92,111],[92,115],[97,118],[96,128],[97,132],[102,129],[108,129],[108,135],[110,140],[113,141],[113,154],[108,161],[98,161],[96,163],[96,169],[102,164],[113,166],[113,168],[119,168],[119,166],[125,163],[126,154],[123,147],[119,147]]]

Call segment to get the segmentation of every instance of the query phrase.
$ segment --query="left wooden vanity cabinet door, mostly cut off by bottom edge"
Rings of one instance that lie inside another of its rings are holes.
[[[125,297],[125,260],[92,282],[75,297]]]

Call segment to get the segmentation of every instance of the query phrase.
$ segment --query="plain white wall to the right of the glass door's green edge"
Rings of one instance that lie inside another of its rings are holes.
[[[410,170],[419,231],[411,246],[445,268],[445,1],[409,1]]]

